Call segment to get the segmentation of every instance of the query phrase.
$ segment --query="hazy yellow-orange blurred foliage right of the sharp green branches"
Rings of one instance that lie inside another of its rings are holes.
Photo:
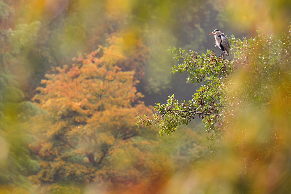
[[[222,141],[214,168],[204,169],[211,175],[200,174],[209,180],[205,193],[290,193],[289,29],[279,36],[260,29],[248,40],[231,38],[241,70],[224,92]]]

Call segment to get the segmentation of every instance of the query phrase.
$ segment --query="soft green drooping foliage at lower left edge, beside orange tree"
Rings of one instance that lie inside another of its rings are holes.
[[[24,115],[23,93],[9,72],[0,73],[0,183],[1,185],[29,184],[27,175],[37,172],[38,163],[31,158],[27,144],[28,136],[21,125]],[[27,111],[37,107],[26,109]],[[30,115],[25,114],[28,118]]]

